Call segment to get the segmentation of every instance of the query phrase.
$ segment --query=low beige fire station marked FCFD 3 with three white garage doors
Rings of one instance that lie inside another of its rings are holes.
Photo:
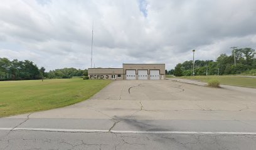
[[[123,68],[89,68],[89,79],[166,79],[165,64],[123,64]]]

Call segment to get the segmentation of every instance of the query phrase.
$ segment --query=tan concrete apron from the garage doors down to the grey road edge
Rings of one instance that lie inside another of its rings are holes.
[[[29,118],[250,120],[256,112],[254,91],[172,81],[115,81],[87,101],[33,113]]]

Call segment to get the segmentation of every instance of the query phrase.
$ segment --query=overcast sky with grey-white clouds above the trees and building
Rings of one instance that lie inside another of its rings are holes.
[[[120,68],[230,54],[256,47],[255,0],[1,0],[0,58],[28,59],[46,71]]]

